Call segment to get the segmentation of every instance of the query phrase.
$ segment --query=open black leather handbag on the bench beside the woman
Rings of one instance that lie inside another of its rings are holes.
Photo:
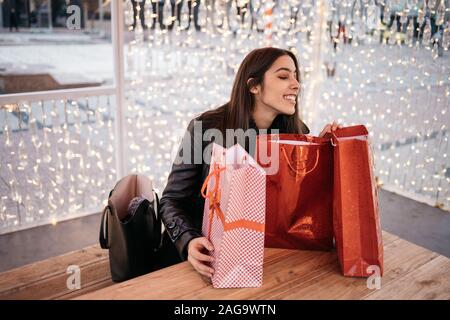
[[[159,200],[150,179],[128,175],[109,193],[100,224],[100,246],[109,249],[112,280],[156,270],[161,246]]]

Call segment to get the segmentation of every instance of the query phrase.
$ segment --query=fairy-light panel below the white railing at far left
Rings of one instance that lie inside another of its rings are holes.
[[[98,212],[116,180],[114,96],[3,105],[0,233]]]

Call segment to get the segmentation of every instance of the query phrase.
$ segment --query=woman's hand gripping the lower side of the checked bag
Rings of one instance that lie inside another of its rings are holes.
[[[188,244],[188,261],[201,275],[211,278],[214,269],[208,267],[205,262],[212,262],[214,258],[205,254],[205,251],[213,251],[214,246],[205,237],[194,238]]]

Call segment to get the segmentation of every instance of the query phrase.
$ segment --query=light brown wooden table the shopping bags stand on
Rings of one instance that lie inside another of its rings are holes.
[[[77,299],[450,299],[450,259],[383,232],[381,289],[344,277],[335,251],[265,249],[259,288],[214,289],[183,262]]]

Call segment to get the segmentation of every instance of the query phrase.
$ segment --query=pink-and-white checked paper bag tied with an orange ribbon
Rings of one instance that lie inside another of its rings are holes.
[[[264,170],[240,145],[213,145],[210,173],[202,187],[202,232],[214,245],[215,288],[262,285],[265,183]]]

